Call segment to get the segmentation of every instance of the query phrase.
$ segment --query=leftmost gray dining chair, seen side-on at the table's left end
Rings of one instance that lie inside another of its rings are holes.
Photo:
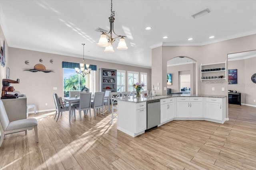
[[[53,96],[54,104],[55,104],[55,107],[56,107],[56,112],[55,112],[54,119],[55,119],[55,117],[57,115],[57,112],[58,112],[58,117],[57,117],[57,120],[56,120],[56,121],[58,121],[58,119],[60,117],[60,113],[62,115],[62,112],[63,111],[68,111],[69,107],[68,107],[68,104],[63,104],[62,98],[59,97],[58,94],[53,93],[52,96]],[[74,106],[71,106],[71,109],[72,109],[72,112],[75,112],[75,107]]]

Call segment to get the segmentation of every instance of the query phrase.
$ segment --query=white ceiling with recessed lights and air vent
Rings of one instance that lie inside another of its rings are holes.
[[[206,8],[210,13],[192,18]],[[114,53],[96,45],[95,29],[109,29],[110,0],[1,0],[0,23],[9,47],[82,58],[85,43],[86,59],[151,68],[150,47],[255,34],[255,9],[255,0],[113,0],[114,31],[127,36],[128,46],[120,51],[114,42]],[[146,31],[147,26],[152,29]]]

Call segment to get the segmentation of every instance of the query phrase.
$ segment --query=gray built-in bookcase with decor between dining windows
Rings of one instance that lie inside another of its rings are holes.
[[[116,92],[116,70],[100,68],[100,90]]]

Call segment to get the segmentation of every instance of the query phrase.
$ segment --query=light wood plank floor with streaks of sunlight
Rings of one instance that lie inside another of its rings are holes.
[[[92,113],[93,114],[93,113]],[[229,121],[171,121],[138,137],[110,125],[111,115],[54,121],[54,112],[30,114],[34,131],[7,135],[0,169],[256,169],[256,107],[229,105]]]

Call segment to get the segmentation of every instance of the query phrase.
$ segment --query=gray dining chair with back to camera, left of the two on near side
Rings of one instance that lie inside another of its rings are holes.
[[[92,117],[92,115],[91,115],[91,100],[92,100],[92,93],[80,93],[79,104],[74,106],[75,109],[77,109],[79,111],[80,120],[82,120],[82,117],[81,117],[82,110],[84,111],[84,114],[86,114],[86,115],[89,110],[90,117]],[[76,114],[74,115],[74,117],[76,118]]]

